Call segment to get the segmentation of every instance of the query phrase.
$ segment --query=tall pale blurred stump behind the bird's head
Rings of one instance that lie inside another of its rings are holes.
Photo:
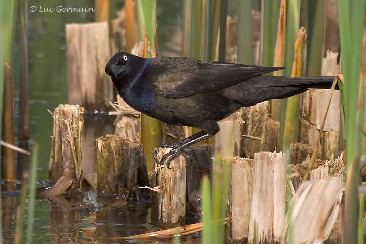
[[[69,103],[87,110],[109,108],[113,85],[105,74],[110,58],[107,22],[66,25]]]

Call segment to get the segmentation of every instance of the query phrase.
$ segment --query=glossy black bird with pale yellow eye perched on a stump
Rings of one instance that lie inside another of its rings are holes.
[[[217,121],[241,107],[287,98],[309,88],[330,89],[334,77],[270,76],[284,67],[201,62],[186,57],[141,58],[119,52],[105,72],[119,95],[134,109],[169,124],[202,131],[172,145],[160,161],[170,161],[188,146],[219,132]],[[154,153],[156,159],[156,152]]]

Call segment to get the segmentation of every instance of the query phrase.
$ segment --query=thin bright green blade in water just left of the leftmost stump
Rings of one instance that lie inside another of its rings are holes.
[[[33,218],[34,205],[36,199],[36,184],[37,184],[37,164],[38,164],[38,143],[33,145],[31,159],[31,177],[29,178],[29,200],[28,200],[28,226],[27,226],[27,242],[32,243],[33,237]]]

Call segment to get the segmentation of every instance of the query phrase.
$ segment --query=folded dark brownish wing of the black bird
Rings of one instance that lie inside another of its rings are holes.
[[[164,90],[164,94],[168,98],[183,98],[196,93],[210,92],[236,85],[265,73],[284,69],[283,67],[262,67],[223,62],[198,62],[193,59],[180,60],[182,62],[178,62],[178,65],[173,69],[175,74],[170,79],[170,85]],[[170,72],[169,70],[167,67],[166,72]]]

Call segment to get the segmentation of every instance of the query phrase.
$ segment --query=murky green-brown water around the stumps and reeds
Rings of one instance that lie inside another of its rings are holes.
[[[111,15],[116,16],[123,0],[111,1]],[[176,33],[180,25],[182,1],[157,1],[158,43],[161,54],[179,55],[179,35]],[[48,163],[51,148],[53,119],[47,110],[53,111],[59,104],[67,103],[66,83],[66,44],[65,24],[94,21],[93,12],[63,12],[39,11],[40,8],[58,7],[60,2],[46,0],[29,0],[28,7],[35,6],[35,12],[28,14],[28,60],[29,60],[29,89],[31,95],[31,144],[38,142],[40,151],[38,157],[37,187],[47,186]],[[63,7],[93,6],[94,1],[72,0],[62,2]],[[18,37],[17,37],[18,38]],[[170,42],[169,40],[172,40]],[[178,41],[177,41],[178,40]],[[19,62],[15,50],[14,63]],[[15,107],[16,94],[19,89],[17,77],[22,72],[14,66]],[[85,173],[90,178],[95,177],[95,139],[105,134],[112,134],[114,118],[105,116],[85,116],[84,128],[84,162]],[[86,159],[86,160],[85,160]],[[19,174],[18,174],[19,175]],[[20,189],[21,184],[3,184],[3,190]],[[156,206],[150,204],[111,204],[97,205],[95,192],[79,194],[78,196],[63,195],[53,199],[37,199],[33,223],[32,243],[169,243],[170,240],[132,241],[114,239],[156,231]],[[16,209],[19,197],[2,196],[2,229],[4,243],[13,243],[16,225]],[[28,202],[28,199],[26,199]],[[24,216],[24,243],[28,235],[28,209]],[[188,223],[197,222],[191,218]],[[108,239],[109,238],[109,239]],[[182,243],[199,242],[199,235],[182,238]]]

